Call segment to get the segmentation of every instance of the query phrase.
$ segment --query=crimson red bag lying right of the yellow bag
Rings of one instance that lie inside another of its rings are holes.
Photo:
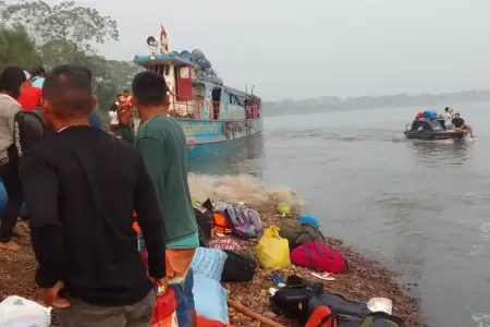
[[[297,266],[319,271],[340,274],[347,270],[347,263],[342,253],[316,242],[294,249],[291,252],[291,262]]]

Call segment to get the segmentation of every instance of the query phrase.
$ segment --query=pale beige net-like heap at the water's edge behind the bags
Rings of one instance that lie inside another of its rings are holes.
[[[240,175],[188,175],[188,185],[193,199],[243,202],[254,206],[275,206],[287,203],[293,208],[304,205],[304,198],[290,187],[270,187],[261,180],[248,174]]]

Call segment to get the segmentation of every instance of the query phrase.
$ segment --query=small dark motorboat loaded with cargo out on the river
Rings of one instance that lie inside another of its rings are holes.
[[[404,132],[406,138],[422,141],[463,140],[468,133],[462,130],[446,130],[444,120],[438,118],[416,119],[412,125],[406,125]]]

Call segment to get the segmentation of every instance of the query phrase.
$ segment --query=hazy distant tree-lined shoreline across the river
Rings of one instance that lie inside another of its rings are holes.
[[[490,101],[490,90],[466,90],[439,95],[406,94],[379,97],[354,97],[340,99],[322,97],[305,100],[264,101],[264,116],[305,114],[336,111],[368,110],[397,107],[420,107],[420,110],[442,110],[457,104]]]

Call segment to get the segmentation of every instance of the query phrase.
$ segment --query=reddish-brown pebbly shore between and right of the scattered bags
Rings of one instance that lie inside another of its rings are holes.
[[[277,223],[282,219],[294,219],[281,217],[275,214],[274,208],[258,208],[262,222],[266,227]],[[420,313],[418,301],[409,294],[408,288],[397,283],[397,274],[383,268],[379,263],[371,261],[352,247],[345,246],[341,240],[327,237],[328,244],[332,249],[340,250],[346,258],[350,271],[335,275],[335,280],[323,282],[324,289],[329,292],[342,294],[345,298],[367,302],[375,296],[388,298],[393,301],[393,315],[405,320],[405,327],[428,326]],[[255,256],[258,241],[238,241],[242,251]],[[311,270],[303,267],[291,266],[279,271],[281,277],[298,275],[308,281],[321,281],[313,277]],[[269,277],[270,271],[257,269],[256,276],[250,283],[225,283],[230,290],[230,299],[240,301],[245,306],[255,312],[282,323],[284,326],[292,326],[291,320],[275,316],[269,305],[268,289],[277,283]],[[236,327],[265,326],[253,322],[248,317],[230,310],[230,322]],[[293,325],[294,326],[294,325]]]

